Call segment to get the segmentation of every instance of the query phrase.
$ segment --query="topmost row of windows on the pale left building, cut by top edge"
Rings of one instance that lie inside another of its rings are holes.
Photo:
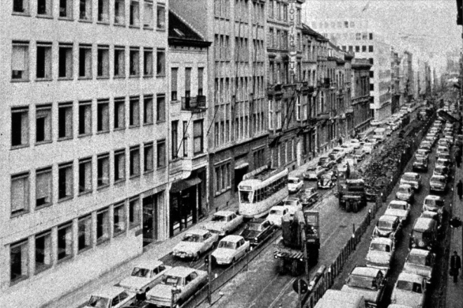
[[[74,5],[74,1],[77,5]],[[128,16],[126,16],[128,11]],[[117,26],[143,27],[153,29],[154,8],[152,0],[13,0],[13,14],[36,15],[39,18],[53,18],[93,22]],[[156,8],[156,29],[166,29],[166,8]]]

